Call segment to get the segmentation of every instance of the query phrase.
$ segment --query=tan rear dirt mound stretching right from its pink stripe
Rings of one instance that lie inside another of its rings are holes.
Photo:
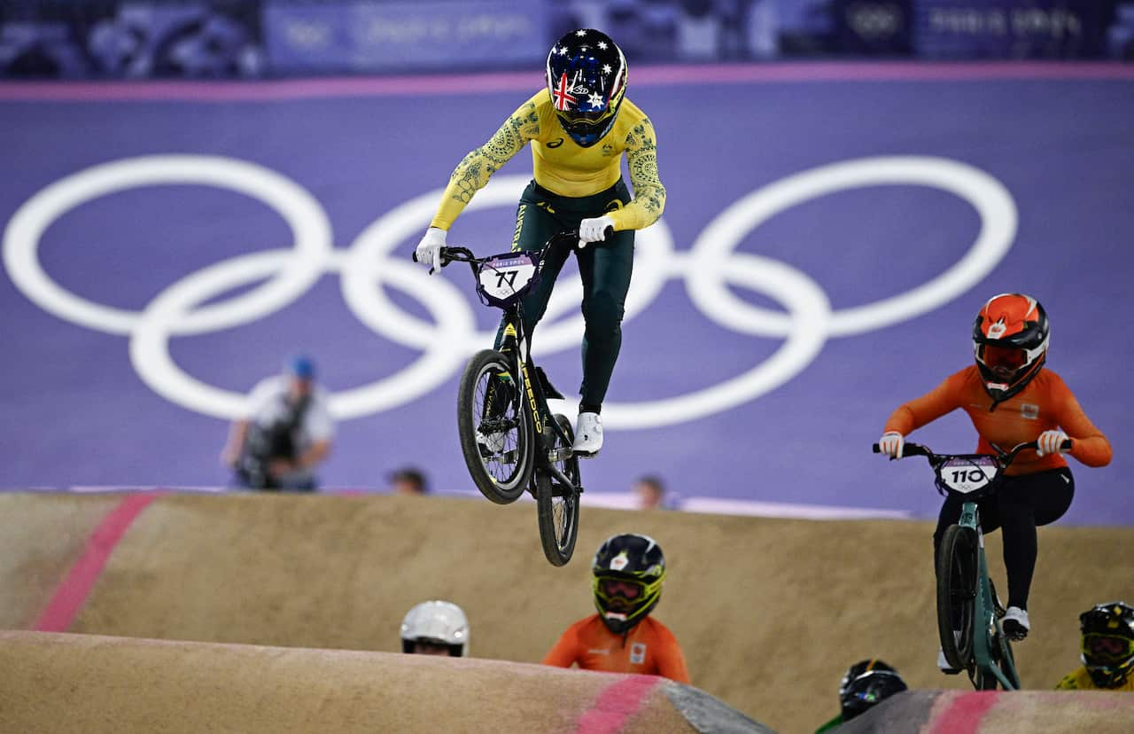
[[[0,537],[22,523],[0,515]],[[538,663],[593,613],[591,555],[617,532],[665,549],[654,614],[680,642],[693,685],[772,728],[810,732],[833,716],[839,678],[863,658],[887,660],[911,687],[970,687],[934,667],[928,522],[584,508],[575,558],[553,568],[531,503],[171,495],[135,521],[71,631],[392,652],[406,610],[448,599],[468,614],[473,656]],[[987,545],[1002,580],[999,541],[993,533]],[[1078,665],[1082,610],[1134,600],[1132,547],[1131,529],[1040,529],[1034,632],[1015,648],[1025,686],[1050,690]],[[10,590],[0,588],[2,615]]]

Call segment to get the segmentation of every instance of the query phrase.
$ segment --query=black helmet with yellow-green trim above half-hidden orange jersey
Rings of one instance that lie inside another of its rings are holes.
[[[611,535],[591,563],[594,606],[607,628],[628,632],[658,605],[666,580],[666,556],[649,535]]]

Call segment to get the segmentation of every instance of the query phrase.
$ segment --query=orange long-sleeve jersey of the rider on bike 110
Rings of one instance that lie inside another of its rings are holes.
[[[1034,441],[1040,433],[1063,429],[1073,441],[1070,455],[1088,466],[1110,463],[1110,442],[1083,413],[1078,400],[1063,379],[1044,368],[1023,390],[989,411],[992,398],[984,391],[980,371],[970,365],[950,374],[932,391],[902,405],[886,421],[886,431],[903,436],[936,421],[946,413],[962,408],[968,414],[980,440],[976,453],[992,454],[992,445],[1004,450],[1017,444]],[[1006,472],[1009,475],[1032,474],[1066,466],[1059,454],[1038,456],[1024,452]]]

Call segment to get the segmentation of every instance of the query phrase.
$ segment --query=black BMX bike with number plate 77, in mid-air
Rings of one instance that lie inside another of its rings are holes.
[[[538,252],[488,258],[466,247],[441,248],[441,267],[467,262],[481,302],[503,311],[500,348],[474,354],[460,377],[457,430],[465,464],[481,493],[498,505],[516,501],[525,490],[535,496],[543,555],[553,566],[575,551],[583,484],[570,420],[548,407],[549,398],[564,396],[532,360],[522,301],[539,282],[549,248],[572,246],[577,238],[561,233]]]

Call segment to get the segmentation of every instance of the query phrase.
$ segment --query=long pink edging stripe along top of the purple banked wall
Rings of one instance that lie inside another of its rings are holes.
[[[1134,81],[1134,64],[1072,61],[812,61],[643,66],[635,86],[786,82]],[[389,75],[257,82],[0,82],[0,101],[264,101],[534,92],[539,71]]]

